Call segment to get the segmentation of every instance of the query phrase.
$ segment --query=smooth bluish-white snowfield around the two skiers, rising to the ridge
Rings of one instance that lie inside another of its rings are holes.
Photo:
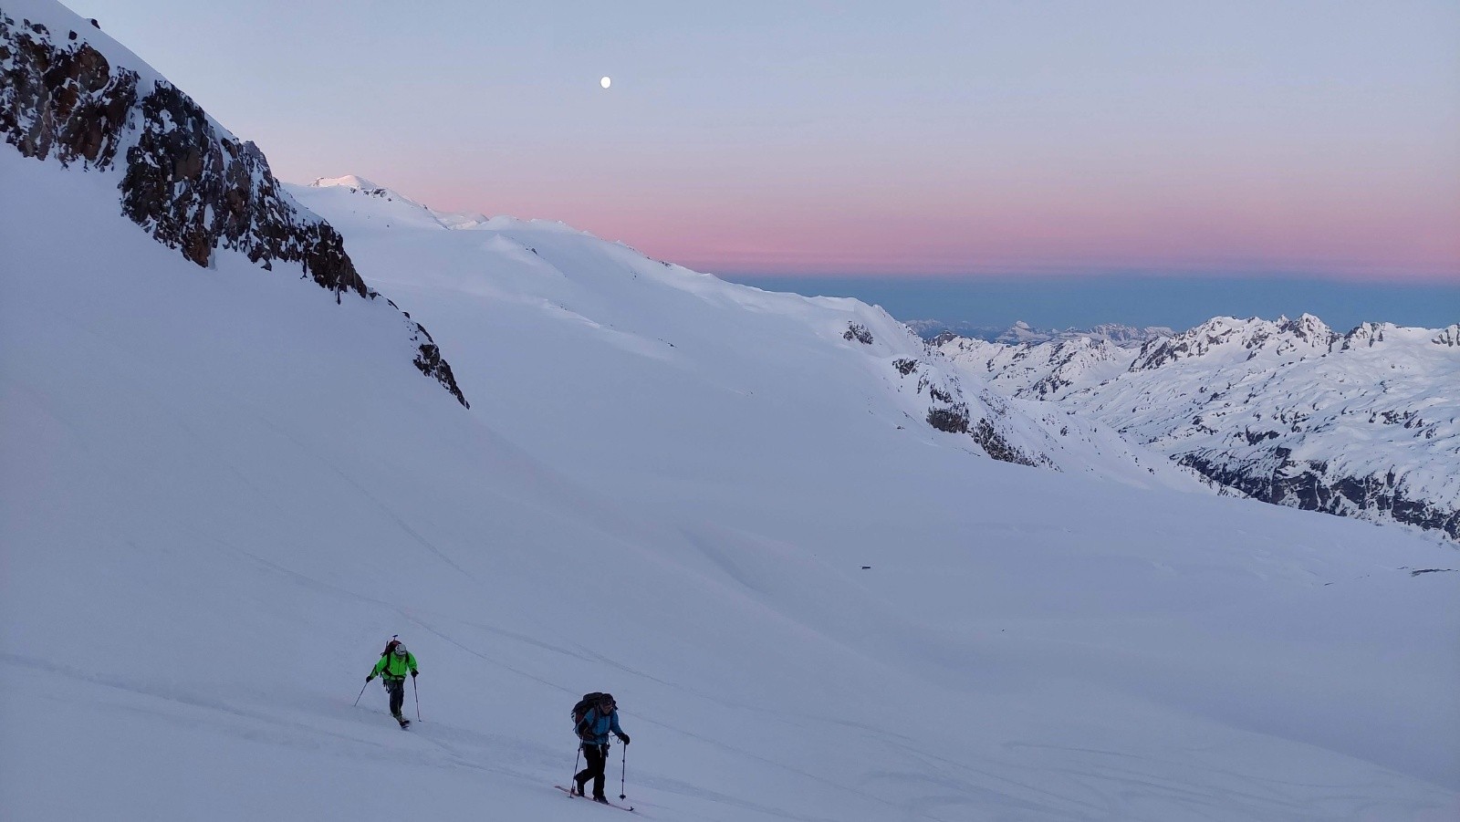
[[[987,385],[877,308],[323,183],[470,409],[384,301],[0,146],[0,818],[613,815],[552,788],[587,691],[648,819],[1460,813],[1454,549],[1019,406],[1095,470],[996,461],[926,419]],[[391,634],[409,731],[353,705]]]

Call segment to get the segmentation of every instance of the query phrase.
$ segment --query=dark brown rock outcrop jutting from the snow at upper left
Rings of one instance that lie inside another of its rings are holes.
[[[139,99],[139,76],[112,67],[76,32],[64,45],[41,25],[0,12],[0,134],[35,159],[110,169],[127,149],[121,212],[158,242],[199,266],[218,248],[245,254],[264,270],[298,264],[301,276],[334,292],[375,299],[345,239],[299,209],[280,188],[263,152],[218,128],[171,83],[159,80]],[[416,345],[415,365],[463,406],[466,397],[431,334],[402,318]]]

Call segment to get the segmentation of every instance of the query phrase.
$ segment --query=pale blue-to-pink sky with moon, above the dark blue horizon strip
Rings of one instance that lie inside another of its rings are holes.
[[[1460,285],[1454,1],[70,4],[285,180],[698,270]]]

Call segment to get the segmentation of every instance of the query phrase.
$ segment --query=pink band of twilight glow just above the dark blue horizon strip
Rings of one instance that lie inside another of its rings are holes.
[[[924,197],[927,193],[920,193]],[[1139,193],[1137,193],[1139,194]],[[1149,194],[1149,193],[1148,193]],[[444,197],[470,201],[474,197]],[[765,274],[981,274],[1149,270],[1460,280],[1460,204],[1346,191],[1202,191],[1191,203],[1132,193],[825,199],[803,193],[682,203],[577,200],[488,213],[561,219],[661,260]],[[834,203],[828,206],[826,203]],[[435,203],[434,203],[435,204]]]

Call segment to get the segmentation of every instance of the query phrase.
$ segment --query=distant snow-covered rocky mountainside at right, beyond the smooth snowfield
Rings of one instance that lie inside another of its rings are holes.
[[[1139,352],[943,340],[965,374],[1282,505],[1460,539],[1460,326],[1218,317]]]

